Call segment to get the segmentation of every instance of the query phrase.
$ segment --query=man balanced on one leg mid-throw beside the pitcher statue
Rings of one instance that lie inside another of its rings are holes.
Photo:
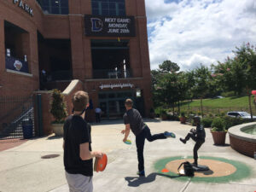
[[[131,99],[125,100],[125,108],[126,108],[126,112],[124,114],[125,130],[121,131],[121,133],[125,134],[123,142],[127,140],[127,137],[130,134],[130,130],[136,136],[137,160],[138,160],[137,175],[145,176],[144,157],[143,157],[145,138],[147,138],[148,142],[153,142],[154,140],[166,139],[167,137],[175,138],[175,135],[172,132],[165,131],[164,133],[154,134],[152,136],[148,126],[144,124],[141,114],[137,111],[137,109],[132,108],[132,105],[133,105],[133,102]]]

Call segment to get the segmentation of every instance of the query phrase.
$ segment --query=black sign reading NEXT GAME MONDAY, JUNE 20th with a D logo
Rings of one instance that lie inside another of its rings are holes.
[[[84,15],[86,36],[135,37],[133,16]]]

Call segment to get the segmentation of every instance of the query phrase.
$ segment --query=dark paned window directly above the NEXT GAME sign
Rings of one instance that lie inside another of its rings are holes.
[[[125,0],[91,0],[92,15],[125,16]]]

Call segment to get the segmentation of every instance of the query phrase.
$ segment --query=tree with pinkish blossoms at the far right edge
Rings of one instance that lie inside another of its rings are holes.
[[[249,43],[236,47],[233,51],[235,58],[228,57],[224,63],[218,62],[218,66],[213,67],[215,72],[212,74],[224,90],[233,90],[237,96],[246,92],[251,119],[251,90],[256,88],[256,49],[253,48]]]

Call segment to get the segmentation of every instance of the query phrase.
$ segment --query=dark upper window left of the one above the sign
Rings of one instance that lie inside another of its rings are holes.
[[[44,14],[68,15],[68,0],[37,0]]]

